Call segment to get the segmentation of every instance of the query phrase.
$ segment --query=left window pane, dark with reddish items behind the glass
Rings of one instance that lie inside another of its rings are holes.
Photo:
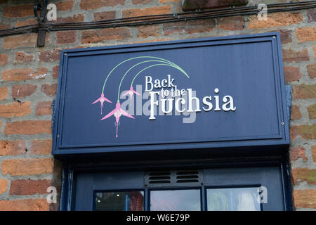
[[[97,192],[96,211],[143,211],[143,191]]]

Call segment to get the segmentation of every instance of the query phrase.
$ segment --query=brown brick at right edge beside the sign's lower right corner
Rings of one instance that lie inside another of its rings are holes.
[[[290,127],[290,136],[291,141],[297,139],[297,137],[301,136],[301,139],[312,140],[316,139],[316,124],[304,124],[298,126]]]

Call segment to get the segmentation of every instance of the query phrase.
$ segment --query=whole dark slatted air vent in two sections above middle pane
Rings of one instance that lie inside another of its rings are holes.
[[[203,173],[199,169],[169,170],[145,173],[145,186],[199,186],[203,184]]]

